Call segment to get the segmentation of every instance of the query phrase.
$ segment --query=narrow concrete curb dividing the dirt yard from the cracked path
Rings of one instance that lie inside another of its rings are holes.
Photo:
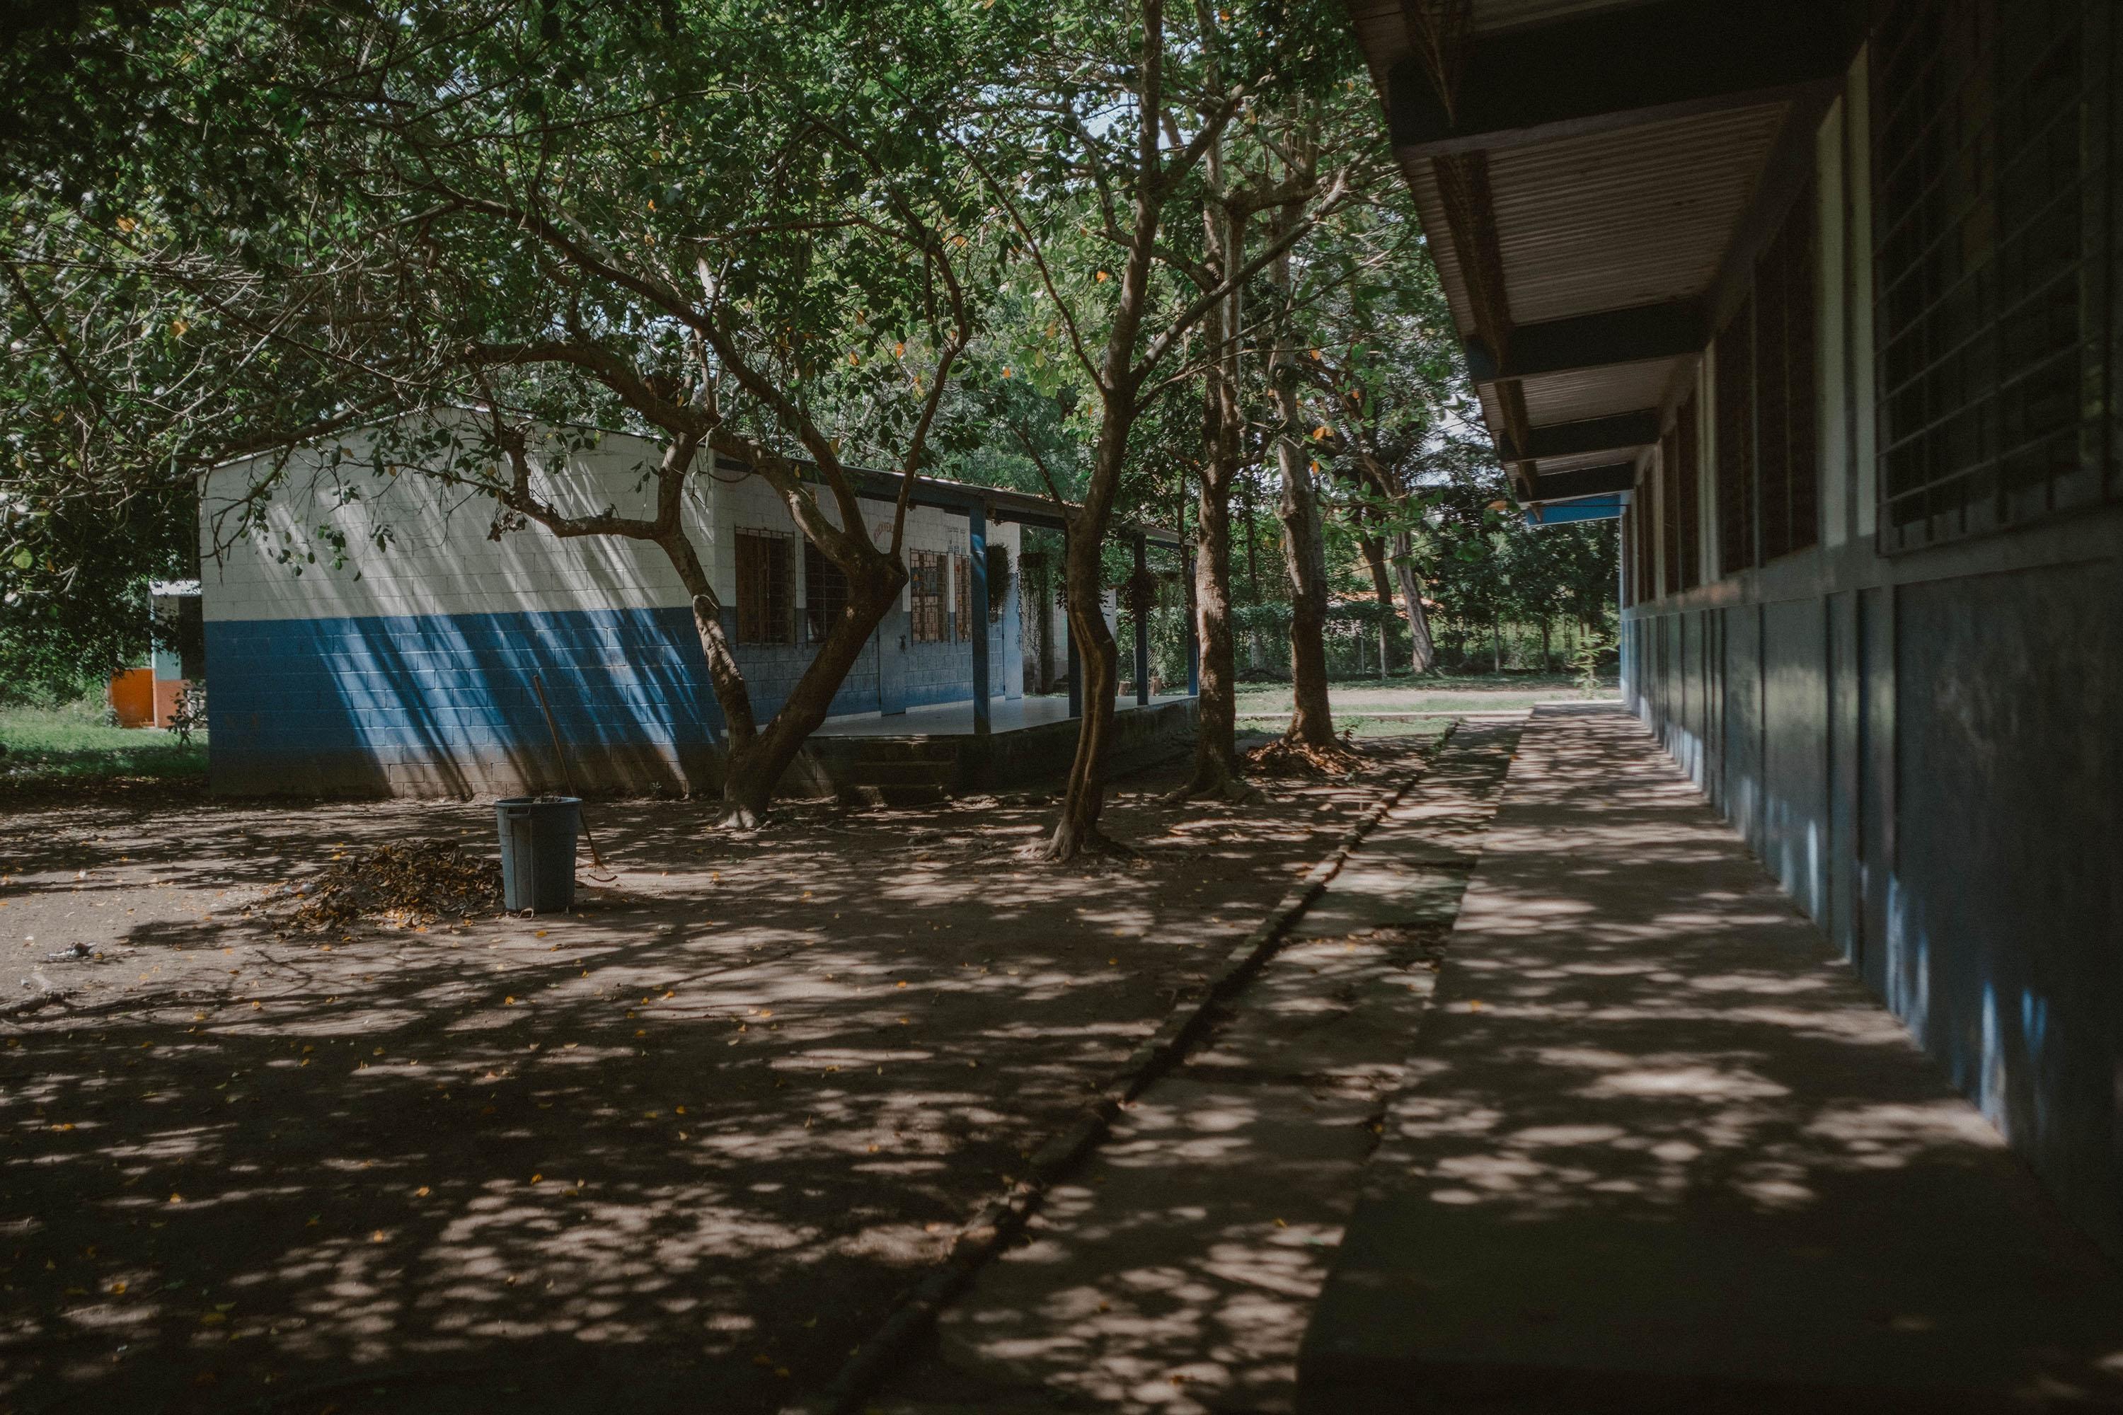
[[[1380,796],[1378,804],[1342,836],[1342,842],[1325,859],[1306,870],[1306,876],[1276,902],[1267,919],[1225,955],[1223,967],[1210,976],[1202,997],[1174,1008],[1157,1031],[1127,1054],[1115,1078],[1100,1086],[1098,1099],[1085,1105],[1068,1126],[1032,1150],[1028,1158],[1030,1173],[1015,1182],[1006,1194],[989,1199],[974,1211],[972,1220],[957,1230],[957,1239],[951,1243],[951,1252],[943,1264],[898,1298],[883,1324],[841,1364],[832,1383],[815,1396],[783,1404],[781,1415],[856,1415],[856,1407],[928,1334],[936,1315],[960,1292],[970,1288],[979,1271],[1025,1226],[1040,1207],[1047,1186],[1106,1139],[1112,1118],[1121,1114],[1121,1107],[1170,1071],[1172,1063],[1208,1029],[1216,1006],[1244,989],[1253,980],[1253,974],[1280,950],[1297,916],[1325,893],[1327,883],[1342,872],[1342,866],[1363,844],[1363,838],[1429,774],[1431,762],[1437,759],[1437,753],[1446,749],[1456,732],[1459,723],[1454,721],[1439,734],[1431,757]]]

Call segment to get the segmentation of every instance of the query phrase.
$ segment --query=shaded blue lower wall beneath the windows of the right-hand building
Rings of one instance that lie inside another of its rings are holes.
[[[2049,564],[2030,537],[1853,545],[1847,581],[1906,579],[1822,586],[1794,556],[1754,598],[1633,607],[1624,692],[1684,764],[1703,745],[1794,904],[2123,1254],[2123,513],[2059,530],[2085,543]]]

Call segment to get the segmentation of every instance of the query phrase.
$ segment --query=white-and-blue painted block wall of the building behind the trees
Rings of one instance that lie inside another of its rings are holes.
[[[461,414],[435,414],[422,467],[484,475]],[[393,441],[403,435],[393,426]],[[212,679],[212,781],[225,793],[484,796],[558,785],[533,675],[552,702],[577,789],[703,791],[720,783],[715,704],[684,586],[652,543],[560,539],[505,524],[448,477],[378,458],[350,433],[284,460],[246,458],[202,482],[202,596]],[[643,516],[660,446],[624,433],[554,431],[533,448],[537,486],[563,511]],[[454,458],[454,462],[452,462]],[[384,462],[384,465],[378,465]],[[263,492],[259,488],[265,488]],[[242,507],[257,509],[246,518]],[[890,526],[887,503],[864,503]],[[735,639],[735,530],[794,526],[758,477],[694,477],[686,528]],[[991,526],[1011,547],[1017,528]],[[964,516],[917,507],[909,549],[960,549]],[[802,556],[794,596],[805,602]],[[989,624],[991,692],[1017,696],[1015,575]],[[947,598],[947,605],[951,600]],[[800,639],[800,636],[798,636]],[[811,645],[739,645],[764,719]],[[834,713],[972,696],[970,643],[907,641],[907,598],[849,672]],[[898,683],[892,683],[892,675]]]

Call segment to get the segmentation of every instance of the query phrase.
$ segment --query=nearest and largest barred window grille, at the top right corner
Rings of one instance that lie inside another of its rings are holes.
[[[2110,0],[1894,0],[1872,38],[1883,552],[2100,501]]]

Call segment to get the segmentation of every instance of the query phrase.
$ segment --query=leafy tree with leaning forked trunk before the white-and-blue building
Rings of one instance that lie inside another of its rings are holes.
[[[163,40],[219,23],[204,13],[180,6]],[[119,216],[83,269],[130,263],[197,303],[204,342],[297,367],[308,405],[257,409],[267,441],[473,405],[499,473],[405,467],[558,537],[656,543],[726,721],[726,819],[756,821],[904,583],[913,475],[979,320],[972,272],[998,255],[947,140],[960,74],[989,66],[987,21],[924,0],[822,4],[800,30],[720,0],[318,0],[231,23],[236,72],[299,68],[240,138],[304,219],[267,208],[242,240],[202,240],[166,214],[183,197],[163,170],[161,208]],[[527,458],[539,422],[662,437],[654,513],[543,499]],[[764,723],[679,516],[709,454],[764,477],[849,581]],[[856,456],[902,473],[885,543],[860,516]]]

